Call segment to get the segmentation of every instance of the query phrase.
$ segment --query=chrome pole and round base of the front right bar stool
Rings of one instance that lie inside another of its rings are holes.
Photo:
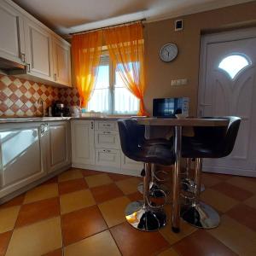
[[[195,159],[195,199],[189,207],[182,207],[183,220],[197,228],[212,229],[219,224],[219,215],[212,207],[200,201],[201,158]]]

